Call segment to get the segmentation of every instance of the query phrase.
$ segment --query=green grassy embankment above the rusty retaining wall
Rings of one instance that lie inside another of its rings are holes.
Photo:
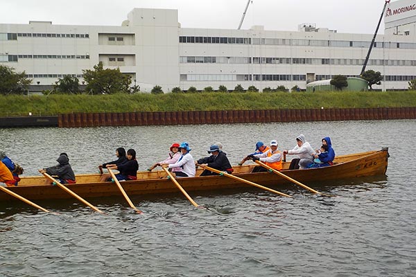
[[[416,91],[0,96],[0,116],[71,112],[416,107]]]

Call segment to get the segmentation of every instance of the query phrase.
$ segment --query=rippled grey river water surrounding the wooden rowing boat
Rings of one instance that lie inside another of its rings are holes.
[[[416,276],[416,121],[270,123],[175,127],[0,129],[0,150],[38,175],[69,154],[76,173],[97,172],[119,146],[137,150],[141,170],[173,142],[207,155],[220,141],[238,163],[258,140],[291,149],[300,133],[318,148],[331,136],[337,154],[390,148],[387,177],[319,189],[92,199],[109,215],[67,200],[0,204],[0,276]],[[339,185],[339,182],[337,183]]]

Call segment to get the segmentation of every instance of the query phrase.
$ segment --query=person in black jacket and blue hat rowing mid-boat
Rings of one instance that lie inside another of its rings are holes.
[[[196,161],[196,164],[201,168],[205,168],[205,166],[209,166],[210,168],[215,168],[216,170],[226,171],[227,173],[232,173],[232,166],[228,161],[227,154],[225,152],[220,151],[218,145],[211,145],[208,150],[208,153],[211,153],[211,156],[199,159]],[[211,172],[209,170],[202,171],[200,176],[208,176],[208,175],[218,175],[216,172]]]

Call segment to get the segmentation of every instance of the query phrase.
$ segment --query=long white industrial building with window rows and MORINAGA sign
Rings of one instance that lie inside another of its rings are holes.
[[[384,22],[366,69],[383,75],[374,89],[407,89],[416,78],[416,0],[389,3]],[[376,23],[367,24],[375,29]],[[83,69],[103,62],[132,75],[142,91],[221,84],[305,89],[333,75],[359,75],[372,37],[314,24],[300,24],[298,31],[181,28],[177,10],[135,8],[121,26],[0,24],[0,64],[42,85],[68,74],[82,81]]]

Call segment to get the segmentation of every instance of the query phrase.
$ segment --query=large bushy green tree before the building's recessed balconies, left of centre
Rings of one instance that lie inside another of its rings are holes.
[[[120,69],[103,69],[99,62],[94,70],[83,70],[84,80],[87,82],[86,91],[93,94],[114,94],[118,92],[129,93],[131,76],[121,73]]]

